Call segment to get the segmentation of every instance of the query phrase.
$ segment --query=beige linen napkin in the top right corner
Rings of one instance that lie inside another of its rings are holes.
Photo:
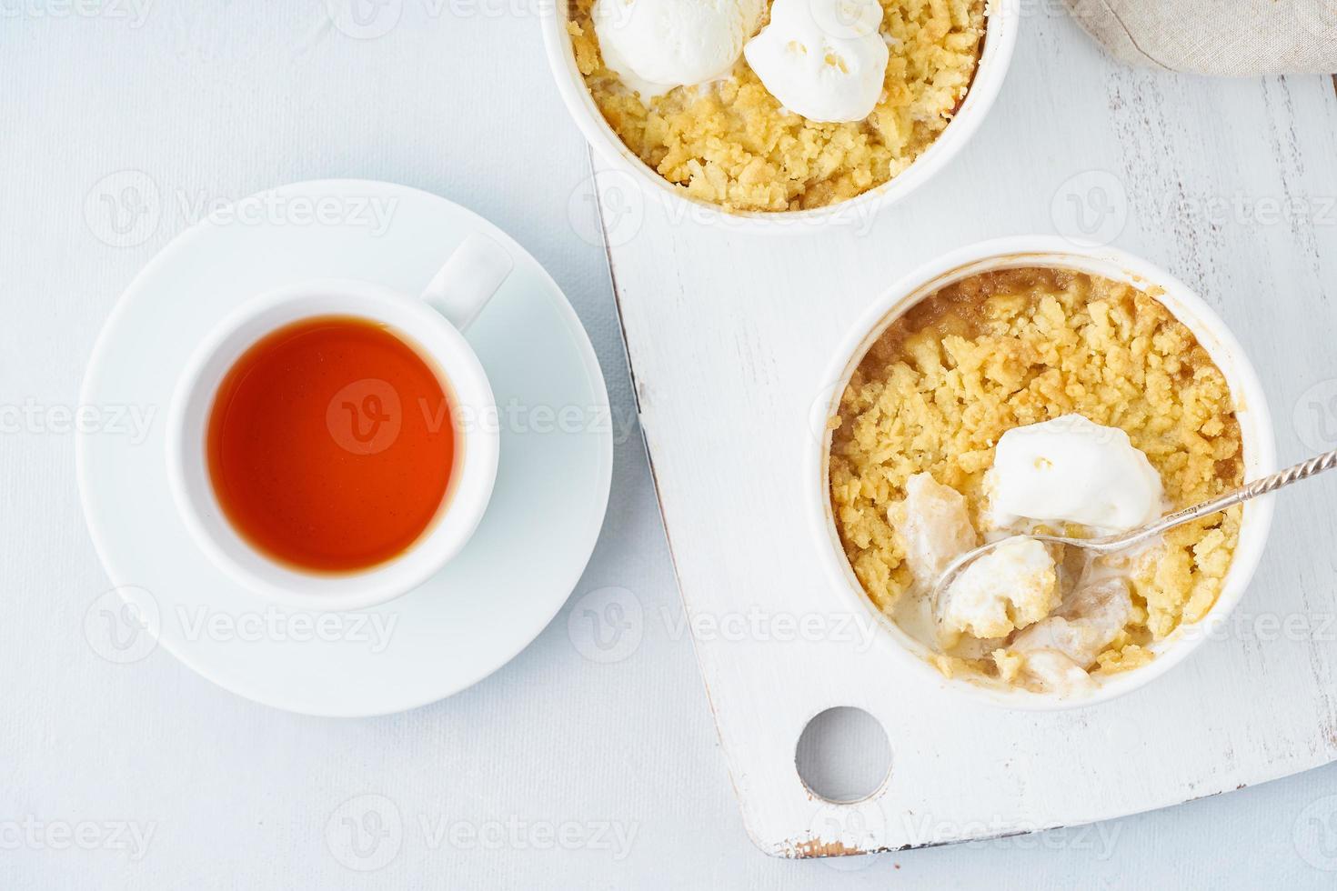
[[[1337,72],[1337,0],[1067,0],[1120,61],[1202,75]]]

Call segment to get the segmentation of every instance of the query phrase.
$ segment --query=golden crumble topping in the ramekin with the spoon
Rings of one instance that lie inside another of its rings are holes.
[[[1173,508],[1243,481],[1225,375],[1152,294],[1059,269],[985,273],[943,289],[869,349],[833,419],[830,498],[856,576],[890,613],[910,586],[888,508],[931,473],[983,526],[984,472],[1007,430],[1078,413],[1124,430]],[[1239,508],[1181,526],[1135,564],[1132,621],[1098,659],[1135,668],[1146,645],[1202,618],[1230,568]],[[997,671],[997,669],[995,669]]]

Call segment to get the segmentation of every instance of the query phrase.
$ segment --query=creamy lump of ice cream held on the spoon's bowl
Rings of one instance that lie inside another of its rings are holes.
[[[936,604],[939,639],[1004,637],[1048,616],[1063,600],[1050,550],[1035,538],[1009,538],[968,565]]]

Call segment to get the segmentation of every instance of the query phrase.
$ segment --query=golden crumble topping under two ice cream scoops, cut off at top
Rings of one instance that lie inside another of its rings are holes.
[[[857,123],[786,111],[742,57],[718,84],[678,87],[646,108],[603,67],[594,0],[574,0],[567,31],[608,126],[664,179],[730,210],[805,210],[901,174],[943,132],[975,76],[984,0],[881,4],[890,60],[877,107]]]

